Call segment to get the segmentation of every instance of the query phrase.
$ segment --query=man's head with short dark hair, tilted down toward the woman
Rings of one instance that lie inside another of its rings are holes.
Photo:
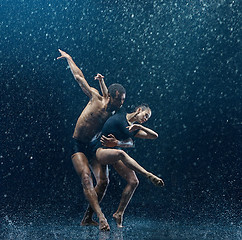
[[[118,83],[114,83],[108,87],[108,93],[110,96],[110,106],[112,110],[119,109],[125,100],[126,90]]]

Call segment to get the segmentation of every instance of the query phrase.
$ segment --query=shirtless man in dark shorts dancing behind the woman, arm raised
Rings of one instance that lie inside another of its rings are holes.
[[[94,188],[91,171],[89,168],[91,157],[90,146],[92,138],[101,131],[105,121],[111,116],[112,111],[119,109],[125,100],[125,89],[120,84],[112,84],[109,91],[104,84],[103,76],[98,74],[95,79],[99,80],[102,94],[89,86],[82,71],[76,66],[72,57],[66,52],[59,49],[61,54],[57,59],[65,58],[70,66],[71,72],[82,88],[83,92],[89,97],[89,102],[79,116],[73,134],[75,141],[75,153],[72,155],[72,162],[77,174],[82,180],[83,191],[91,208],[97,214],[99,219],[99,229],[109,231],[109,224],[99,206],[98,195],[104,195],[108,178],[105,169],[106,166],[101,166],[96,163],[92,166],[95,177],[97,177],[97,186]],[[89,159],[90,160],[90,159]],[[92,219],[84,219],[83,225],[95,225]]]

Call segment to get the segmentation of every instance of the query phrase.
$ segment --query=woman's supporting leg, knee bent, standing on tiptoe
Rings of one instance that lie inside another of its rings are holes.
[[[123,215],[126,207],[131,200],[135,189],[139,185],[139,180],[133,170],[126,167],[122,161],[118,161],[117,163],[113,164],[113,167],[118,172],[118,174],[123,177],[127,181],[127,185],[123,190],[120,204],[118,206],[117,211],[113,214],[113,217],[117,223],[118,227],[123,227]]]

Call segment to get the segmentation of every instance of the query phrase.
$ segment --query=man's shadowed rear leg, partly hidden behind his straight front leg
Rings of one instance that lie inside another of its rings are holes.
[[[98,196],[99,203],[102,201],[109,183],[108,179],[108,166],[101,165],[96,159],[92,160],[92,172],[96,179],[95,191]],[[96,225],[97,223],[93,220],[94,211],[90,205],[88,205],[87,210],[82,219],[82,225]]]

